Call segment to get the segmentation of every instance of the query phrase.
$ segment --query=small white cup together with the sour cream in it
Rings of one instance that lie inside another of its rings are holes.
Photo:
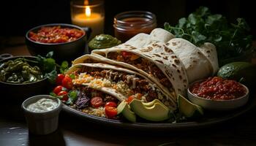
[[[21,104],[29,132],[50,134],[56,131],[61,111],[61,100],[49,95],[32,96]]]

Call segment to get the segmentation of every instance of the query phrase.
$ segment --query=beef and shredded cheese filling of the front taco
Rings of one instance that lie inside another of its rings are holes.
[[[155,88],[155,85],[138,75],[87,66],[83,66],[73,74],[75,74],[75,80],[73,80],[75,85],[91,84],[92,82],[94,88],[97,88],[97,85],[115,88],[116,91],[122,93],[127,98],[135,96],[135,98],[145,102],[159,99],[167,107],[172,107],[169,99],[158,88]]]

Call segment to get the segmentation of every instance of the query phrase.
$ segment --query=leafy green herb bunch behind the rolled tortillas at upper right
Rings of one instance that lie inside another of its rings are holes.
[[[228,23],[224,16],[211,14],[207,7],[200,7],[188,18],[181,18],[176,26],[165,23],[165,30],[197,46],[204,42],[213,43],[217,47],[219,64],[242,56],[246,58],[253,51],[250,28],[243,18],[237,18],[236,23]]]

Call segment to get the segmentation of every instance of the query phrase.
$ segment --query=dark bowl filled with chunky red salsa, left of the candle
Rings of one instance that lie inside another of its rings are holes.
[[[86,50],[89,28],[53,23],[31,28],[26,33],[26,45],[31,55],[53,51],[56,61],[72,61],[88,53]]]

